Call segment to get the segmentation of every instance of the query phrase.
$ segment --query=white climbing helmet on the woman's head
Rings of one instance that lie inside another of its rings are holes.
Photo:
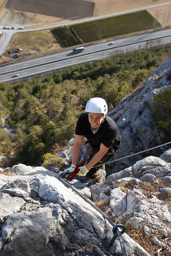
[[[87,101],[85,112],[107,114],[107,103],[102,98],[92,98]]]

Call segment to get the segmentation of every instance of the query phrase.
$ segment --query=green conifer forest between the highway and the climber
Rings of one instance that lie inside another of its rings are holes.
[[[76,121],[92,97],[106,99],[109,111],[170,56],[171,47],[140,50],[108,60],[54,71],[43,79],[0,84],[0,155],[17,163],[41,165],[73,138]],[[153,108],[156,108],[153,105]],[[3,124],[2,122],[0,124]]]

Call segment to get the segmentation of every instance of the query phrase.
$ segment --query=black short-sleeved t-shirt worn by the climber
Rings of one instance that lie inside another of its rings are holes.
[[[108,148],[114,144],[117,145],[120,136],[115,121],[108,116],[105,116],[103,124],[99,127],[98,131],[93,134],[91,131],[91,124],[88,121],[88,113],[80,115],[75,128],[75,134],[84,135],[89,142],[98,146],[102,143]]]

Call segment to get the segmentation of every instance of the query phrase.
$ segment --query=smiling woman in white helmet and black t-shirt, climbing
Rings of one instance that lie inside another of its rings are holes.
[[[87,102],[86,113],[80,115],[75,128],[75,140],[72,149],[72,165],[65,169],[74,172],[80,154],[84,136],[89,147],[84,155],[86,164],[79,167],[79,176],[103,182],[105,180],[105,167],[98,166],[106,163],[117,153],[121,145],[121,133],[113,119],[106,116],[107,103],[102,98],[92,98]]]

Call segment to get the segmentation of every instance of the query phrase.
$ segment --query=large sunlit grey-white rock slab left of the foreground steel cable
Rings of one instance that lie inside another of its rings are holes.
[[[106,249],[113,237],[111,224],[65,187],[58,174],[21,164],[11,171],[22,175],[0,177],[6,181],[0,188],[0,255],[121,254],[118,240]],[[81,183],[77,187],[83,190]],[[126,235],[123,239],[133,255],[138,245]]]

